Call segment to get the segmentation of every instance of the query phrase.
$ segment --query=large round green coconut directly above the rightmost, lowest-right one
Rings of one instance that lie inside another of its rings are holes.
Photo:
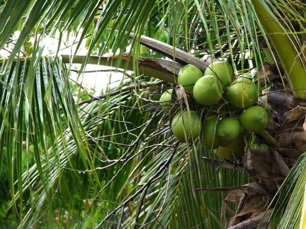
[[[225,90],[224,98],[233,106],[244,109],[257,102],[258,89],[256,84],[250,79],[236,79]]]

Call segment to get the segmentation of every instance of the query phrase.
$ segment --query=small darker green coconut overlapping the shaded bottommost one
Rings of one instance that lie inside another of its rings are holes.
[[[217,126],[216,134],[221,141],[232,141],[238,137],[241,124],[236,117],[223,119]]]

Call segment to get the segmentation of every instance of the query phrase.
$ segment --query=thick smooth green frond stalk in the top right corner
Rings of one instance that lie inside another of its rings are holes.
[[[252,0],[259,22],[269,37],[286,71],[292,89],[306,88],[306,70],[302,56],[295,49],[289,35],[260,0]],[[294,90],[293,95],[305,98],[305,90]]]

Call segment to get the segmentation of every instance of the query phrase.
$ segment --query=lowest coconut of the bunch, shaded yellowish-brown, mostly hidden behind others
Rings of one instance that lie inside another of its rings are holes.
[[[220,146],[218,148],[217,155],[226,160],[235,161],[235,159],[238,160],[239,158],[243,157],[244,148],[245,148],[245,141],[243,139],[243,136],[239,134],[239,136],[231,142],[230,146],[227,147]]]

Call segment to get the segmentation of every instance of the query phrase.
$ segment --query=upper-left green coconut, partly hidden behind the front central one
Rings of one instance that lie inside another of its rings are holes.
[[[197,67],[193,65],[185,65],[181,68],[179,75],[177,76],[177,82],[183,86],[185,91],[192,93],[193,85],[202,76],[202,71]]]

